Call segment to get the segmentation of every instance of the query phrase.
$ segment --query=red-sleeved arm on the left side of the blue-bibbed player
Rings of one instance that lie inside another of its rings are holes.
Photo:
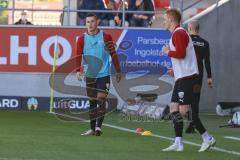
[[[83,55],[83,47],[84,47],[84,36],[81,36],[77,39],[76,46],[76,77],[78,80],[81,79],[81,75],[83,74],[83,66],[82,66],[82,55]]]

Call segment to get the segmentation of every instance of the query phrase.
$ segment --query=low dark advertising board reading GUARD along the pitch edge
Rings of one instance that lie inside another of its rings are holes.
[[[0,109],[49,111],[49,100],[49,97],[0,96]],[[116,99],[108,100],[110,105],[116,104],[116,101]],[[54,97],[53,108],[77,112],[87,111],[89,100],[83,97]]]

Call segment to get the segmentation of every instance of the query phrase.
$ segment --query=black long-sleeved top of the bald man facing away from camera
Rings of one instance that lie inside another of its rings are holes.
[[[199,75],[203,77],[203,62],[207,71],[207,77],[211,78],[210,49],[209,43],[198,35],[191,35],[194,49],[197,55]]]

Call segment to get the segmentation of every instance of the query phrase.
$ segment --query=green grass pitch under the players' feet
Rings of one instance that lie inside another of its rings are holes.
[[[216,147],[240,152],[239,141],[224,136],[240,137],[240,128],[219,128],[228,117],[202,116],[209,132],[217,139]],[[143,127],[154,134],[173,137],[170,122],[128,121],[117,113],[109,114],[105,123],[136,129]],[[143,137],[134,133],[103,127],[101,137],[81,136],[88,123],[64,122],[45,112],[0,111],[0,160],[239,160],[240,156],[210,150],[198,153],[199,147],[185,144],[182,153],[162,152],[169,140]],[[200,144],[198,134],[184,139]]]

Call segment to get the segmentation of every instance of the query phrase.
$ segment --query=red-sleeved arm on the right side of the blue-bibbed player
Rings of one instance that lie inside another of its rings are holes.
[[[117,72],[116,73],[117,82],[119,82],[121,80],[121,67],[120,67],[118,56],[117,56],[115,44],[112,40],[112,36],[110,34],[104,33],[104,41],[105,41],[105,45],[106,45],[106,47],[109,51],[109,54],[112,58],[112,63],[113,63],[113,65],[115,67],[115,70]]]

